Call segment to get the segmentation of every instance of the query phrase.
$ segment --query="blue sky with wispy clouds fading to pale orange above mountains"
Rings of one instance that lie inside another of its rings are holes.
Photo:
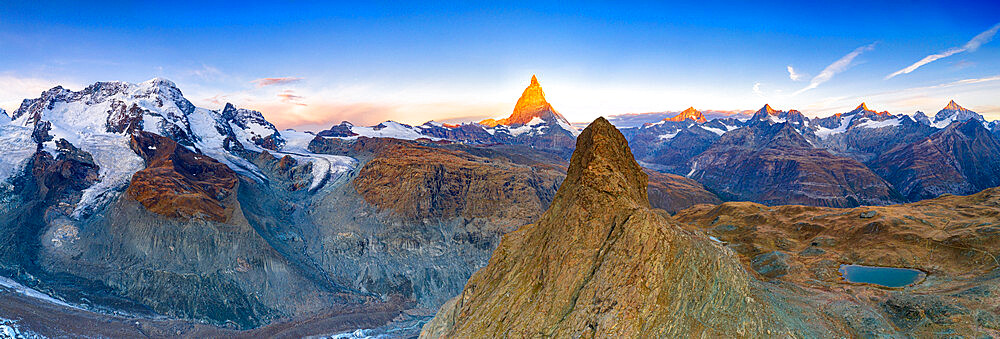
[[[174,81],[279,128],[505,117],[531,75],[569,120],[865,101],[1000,119],[1000,2],[0,3],[0,108]]]

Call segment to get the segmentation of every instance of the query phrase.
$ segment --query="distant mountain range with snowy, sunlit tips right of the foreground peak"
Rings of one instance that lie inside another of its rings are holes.
[[[689,109],[622,133],[645,166],[695,179],[724,200],[853,207],[995,186],[997,125],[952,101],[933,119],[864,103],[812,119],[769,105],[748,119]]]

